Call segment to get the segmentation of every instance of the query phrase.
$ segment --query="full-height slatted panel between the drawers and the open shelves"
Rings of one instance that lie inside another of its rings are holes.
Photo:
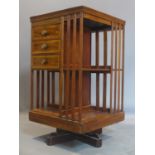
[[[67,15],[64,22],[63,117],[80,120],[82,111],[83,16]]]

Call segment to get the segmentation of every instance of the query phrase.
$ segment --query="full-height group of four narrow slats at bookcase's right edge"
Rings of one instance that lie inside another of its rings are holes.
[[[111,31],[110,112],[124,108],[124,27],[112,23]]]

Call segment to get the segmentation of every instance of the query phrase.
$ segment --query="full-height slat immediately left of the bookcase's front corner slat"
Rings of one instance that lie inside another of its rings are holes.
[[[72,100],[71,100],[71,103],[72,103],[72,119],[74,120],[74,106],[75,106],[75,65],[74,65],[74,55],[75,53],[77,52],[76,51],[76,14],[74,15],[74,19],[73,19],[73,49],[72,49],[72,67],[73,67],[73,70],[72,70]]]

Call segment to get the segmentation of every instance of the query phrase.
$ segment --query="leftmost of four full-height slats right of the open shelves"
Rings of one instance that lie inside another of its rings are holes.
[[[110,112],[112,113],[112,102],[113,102],[113,44],[114,44],[114,24],[112,23],[111,31],[111,74],[110,74]]]

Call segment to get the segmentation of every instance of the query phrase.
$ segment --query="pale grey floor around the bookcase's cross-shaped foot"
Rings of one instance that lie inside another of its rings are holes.
[[[28,113],[20,113],[20,155],[134,155],[134,115],[103,129],[102,147],[95,148],[79,141],[47,146],[45,137],[55,129],[30,122]]]

